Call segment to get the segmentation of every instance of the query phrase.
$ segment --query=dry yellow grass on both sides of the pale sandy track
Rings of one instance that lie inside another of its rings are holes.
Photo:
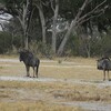
[[[102,72],[97,70],[95,59],[63,60],[41,61],[39,78],[101,82]],[[26,69],[19,61],[1,61],[0,75],[24,77]],[[69,101],[111,103],[111,87],[69,82],[0,81],[0,111],[82,111],[80,108],[60,104]]]

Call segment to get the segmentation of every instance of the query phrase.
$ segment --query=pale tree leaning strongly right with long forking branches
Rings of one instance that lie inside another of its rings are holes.
[[[97,4],[91,11],[83,13],[84,9],[88,7],[88,4],[90,4],[92,1],[90,0],[85,0],[82,4],[82,7],[79,9],[75,18],[72,20],[59,49],[58,49],[58,56],[62,54],[64,46],[72,32],[72,30],[75,31],[75,29],[82,24],[84,21],[90,20],[91,18],[94,18],[97,16],[100,16],[104,12],[104,10],[108,8],[108,6],[105,6],[104,3],[107,2],[107,0],[102,1],[101,3]]]

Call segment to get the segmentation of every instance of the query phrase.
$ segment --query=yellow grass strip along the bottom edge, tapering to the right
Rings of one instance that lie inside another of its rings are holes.
[[[52,104],[42,101],[37,102],[10,102],[0,103],[0,111],[82,111],[80,108]]]

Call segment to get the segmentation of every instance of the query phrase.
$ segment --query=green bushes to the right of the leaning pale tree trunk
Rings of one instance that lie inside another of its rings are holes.
[[[111,36],[92,37],[81,39],[79,36],[71,36],[64,50],[64,56],[111,57]]]

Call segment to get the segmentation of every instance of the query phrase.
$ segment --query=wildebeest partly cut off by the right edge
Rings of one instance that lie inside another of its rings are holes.
[[[103,81],[105,80],[105,71],[108,72],[108,80],[109,78],[109,71],[111,70],[111,61],[108,58],[99,59],[97,62],[98,69],[103,70]]]

